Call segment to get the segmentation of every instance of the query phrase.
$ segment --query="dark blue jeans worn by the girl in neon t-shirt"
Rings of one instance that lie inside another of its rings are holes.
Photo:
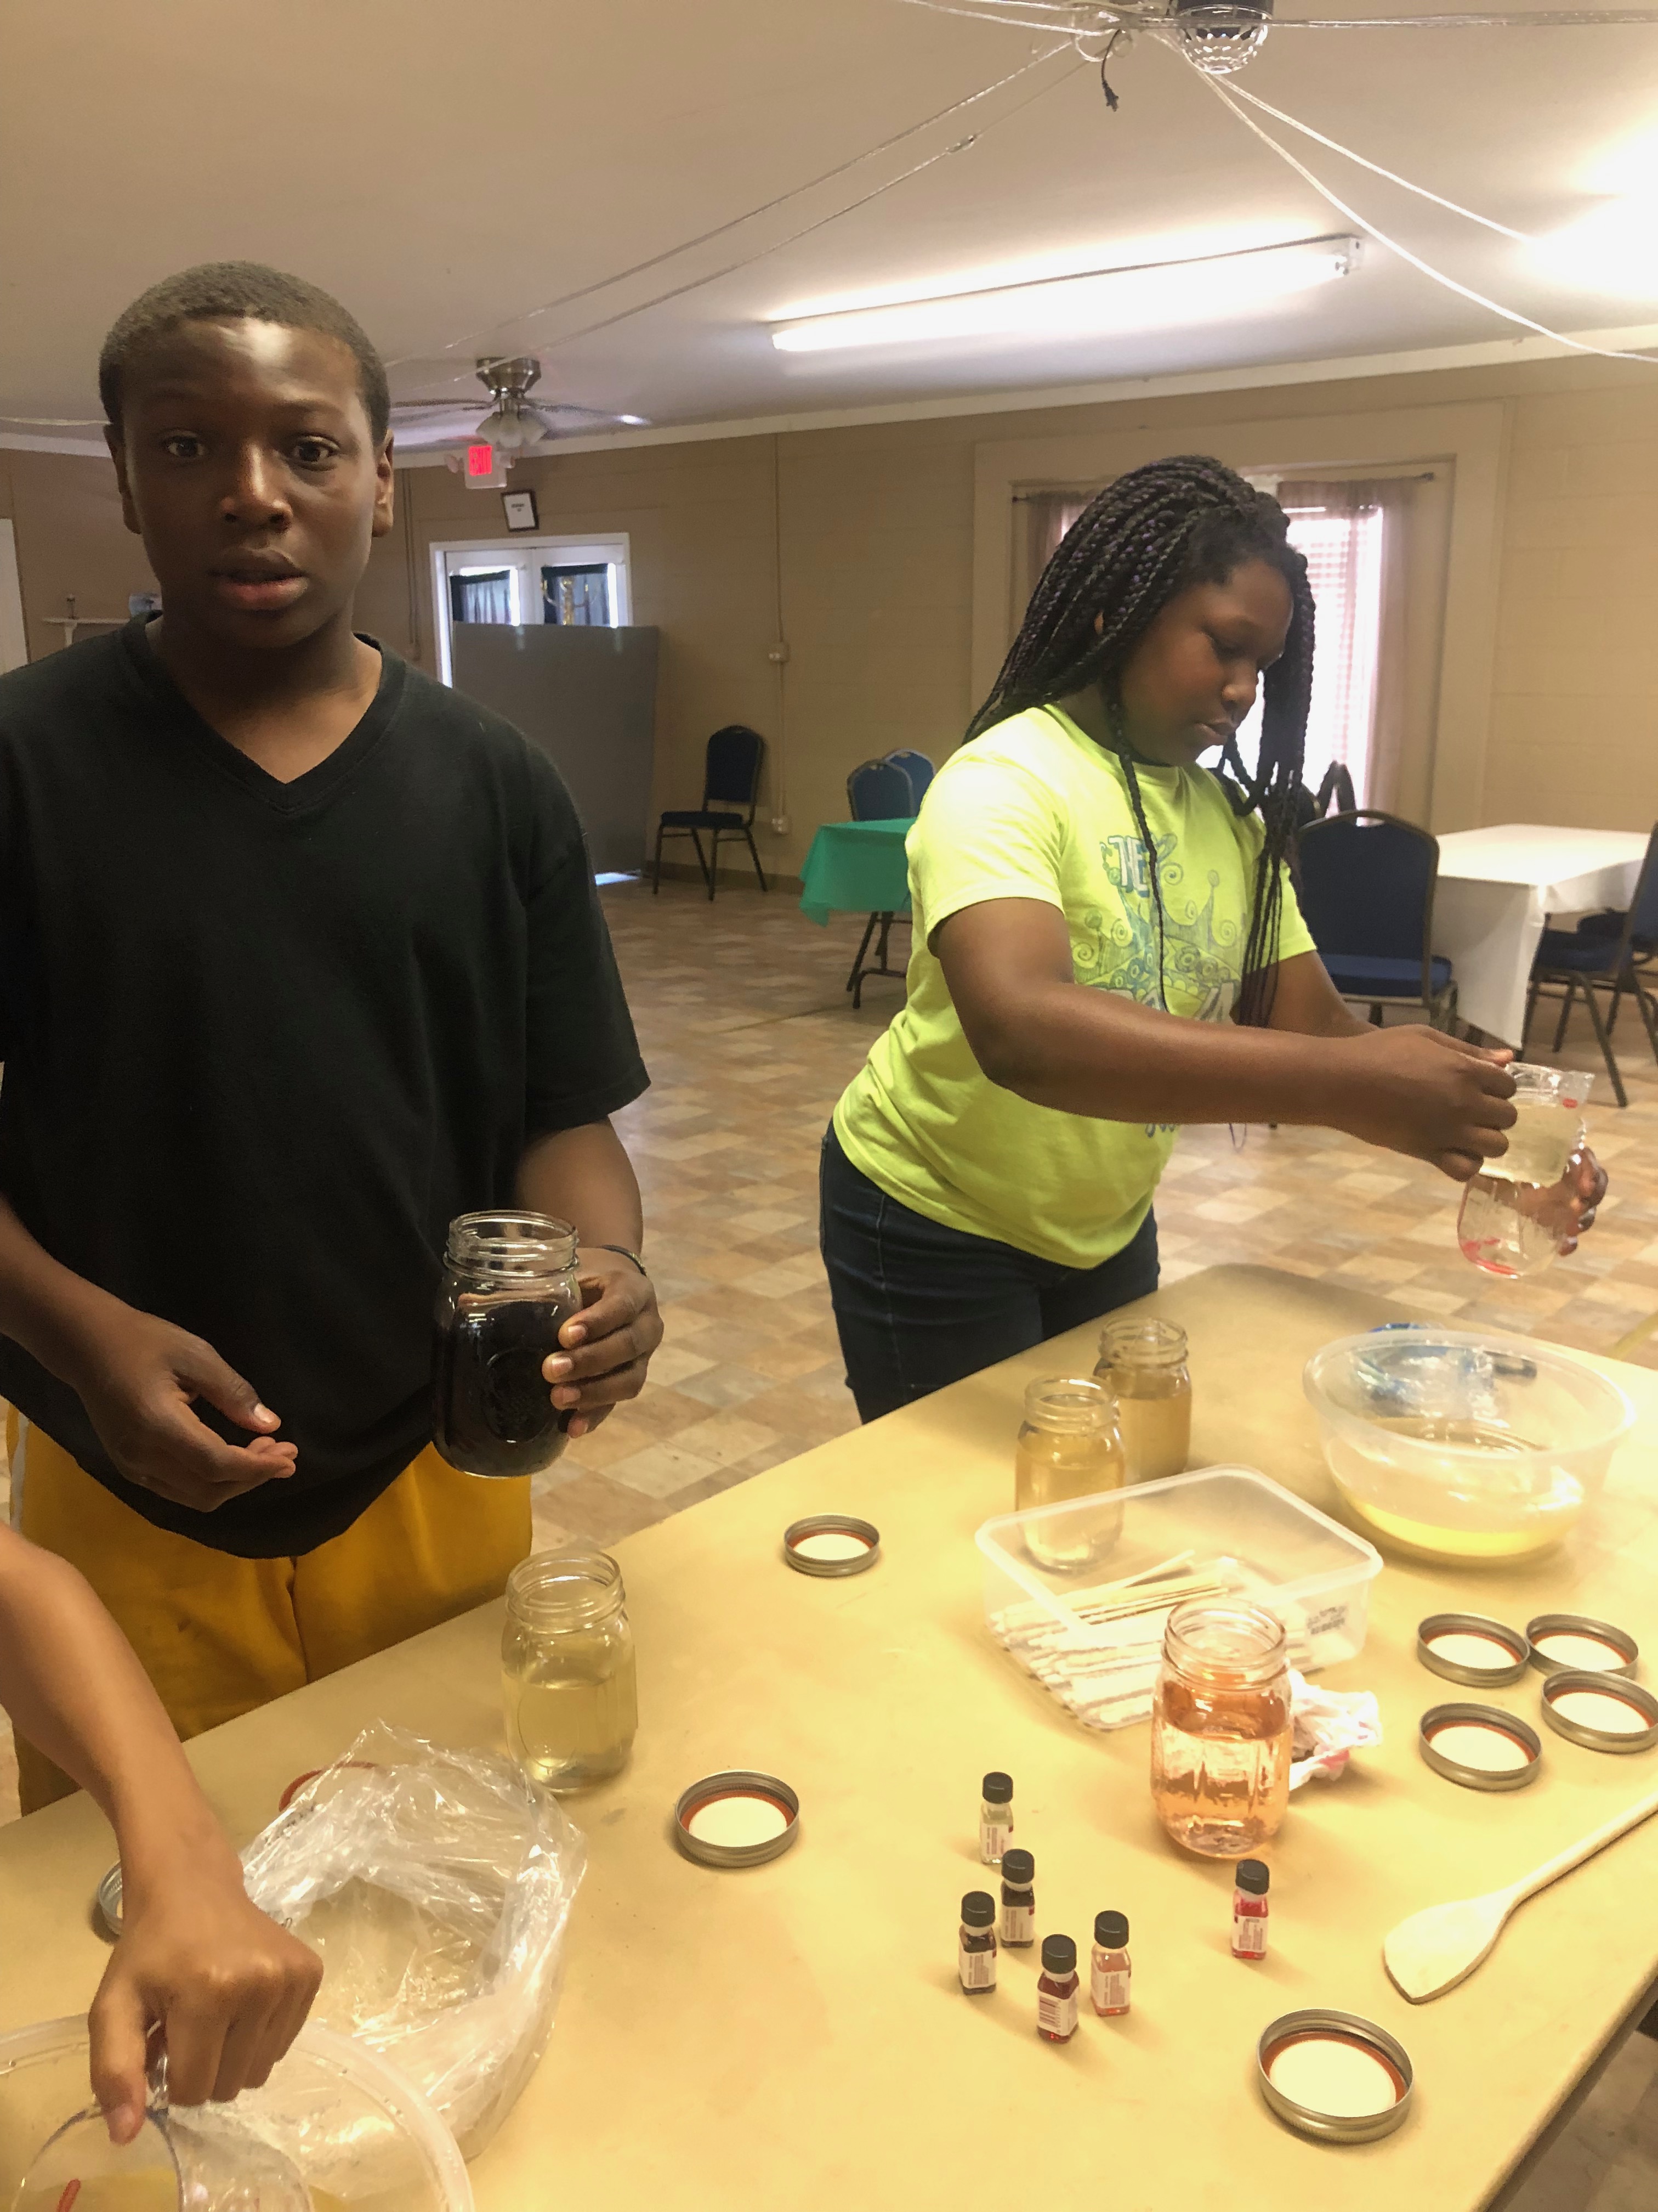
[[[1061,1267],[900,1206],[822,1139],[822,1263],[858,1418],[875,1420],[1156,1290],[1156,1221],[1099,1267]]]

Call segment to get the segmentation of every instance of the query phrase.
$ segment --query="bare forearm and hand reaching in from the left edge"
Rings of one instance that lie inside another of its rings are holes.
[[[144,2124],[161,2028],[168,2097],[259,2086],[298,2035],[321,1960],[248,1902],[241,1860],[130,1644],[82,1575],[0,1528],[0,1703],[102,1807],[124,1936],[91,2008],[93,2095],[117,2143]]]

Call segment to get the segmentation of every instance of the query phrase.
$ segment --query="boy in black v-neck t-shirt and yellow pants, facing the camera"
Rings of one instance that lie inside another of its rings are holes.
[[[360,327],[214,263],[99,385],[164,613],[0,677],[0,1394],[20,1528],[188,1736],[502,1588],[528,1482],[431,1449],[444,1230],[577,1225],[544,1374],[604,1420],[661,1340],[608,1121],[648,1077],[557,772],[351,633]]]

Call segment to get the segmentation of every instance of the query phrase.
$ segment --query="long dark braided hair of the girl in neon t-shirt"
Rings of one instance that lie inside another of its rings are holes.
[[[1222,754],[1236,779],[1222,779],[1234,812],[1260,814],[1265,825],[1238,993],[1238,1018],[1253,1026],[1271,1018],[1282,872],[1295,847],[1295,799],[1313,692],[1313,593],[1307,562],[1289,544],[1287,529],[1278,500],[1200,453],[1154,460],[1119,476],[1088,502],[1041,571],[1001,675],[966,732],[970,741],[1010,714],[1052,706],[1088,684],[1101,686],[1145,849],[1163,1000],[1163,894],[1123,721],[1123,668],[1156,615],[1192,584],[1225,584],[1247,560],[1265,560],[1284,577],[1293,613],[1284,650],[1267,670],[1260,757],[1249,772],[1236,741]],[[1099,630],[1096,617],[1103,617]]]

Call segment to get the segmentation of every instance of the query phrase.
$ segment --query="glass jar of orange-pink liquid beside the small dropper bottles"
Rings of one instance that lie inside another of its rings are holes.
[[[1289,1805],[1282,1621],[1242,1599],[1176,1606],[1152,1703],[1152,1805],[1187,1851],[1245,1858]]]

